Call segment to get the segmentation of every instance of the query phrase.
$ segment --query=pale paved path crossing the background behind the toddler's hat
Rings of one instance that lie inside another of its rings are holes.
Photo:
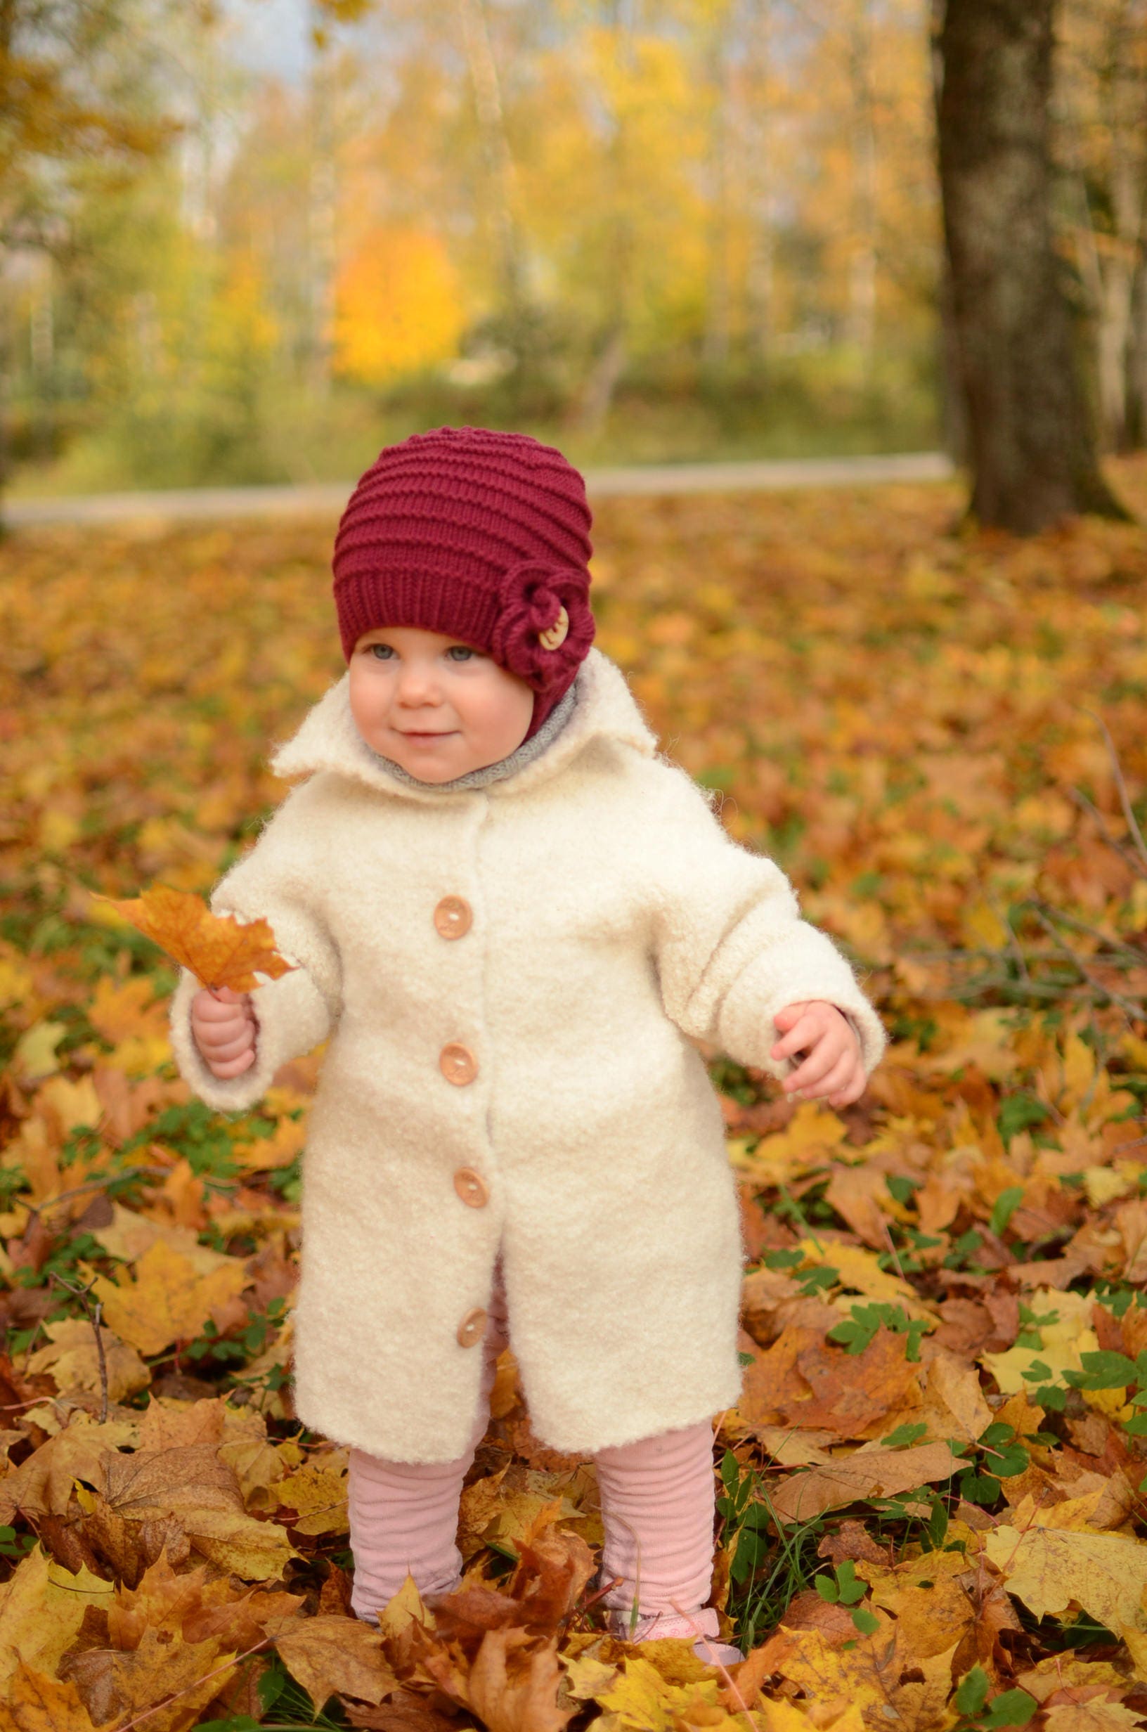
[[[937,450],[891,457],[797,457],[762,462],[665,462],[587,469],[593,499],[617,494],[726,494],[736,488],[868,487],[875,481],[946,481],[949,459]],[[187,487],[158,494],[87,494],[12,499],[0,516],[12,528],[42,523],[132,523],[173,518],[338,516],[353,481],[319,487]]]

